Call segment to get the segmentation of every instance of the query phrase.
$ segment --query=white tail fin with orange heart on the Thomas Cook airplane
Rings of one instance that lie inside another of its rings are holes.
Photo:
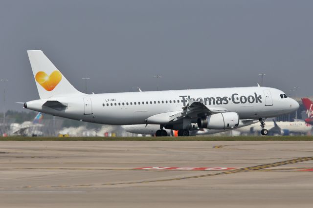
[[[41,50],[27,51],[40,99],[82,94],[71,85]]]

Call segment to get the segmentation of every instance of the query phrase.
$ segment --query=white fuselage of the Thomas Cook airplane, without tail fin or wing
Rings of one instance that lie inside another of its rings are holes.
[[[240,119],[276,117],[296,110],[299,104],[281,98],[281,90],[269,87],[233,87],[106,94],[72,94],[26,103],[27,109],[60,117],[108,125],[146,124],[150,116],[180,112],[187,99],[202,99],[208,108],[223,107]],[[58,101],[65,109],[43,106]],[[140,104],[139,104],[140,103]]]

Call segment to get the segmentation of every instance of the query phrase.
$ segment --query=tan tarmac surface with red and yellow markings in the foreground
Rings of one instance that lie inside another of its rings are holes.
[[[0,142],[0,207],[313,207],[313,142]]]

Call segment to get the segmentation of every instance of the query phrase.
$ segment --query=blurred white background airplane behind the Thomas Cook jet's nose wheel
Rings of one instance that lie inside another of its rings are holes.
[[[306,124],[304,121],[296,120],[294,122],[267,122],[267,127],[270,131],[271,135],[274,134],[289,134],[289,133],[301,133],[306,134],[308,132],[311,132],[312,126],[310,124]],[[241,133],[255,133],[258,131],[259,128],[258,124],[252,124],[249,126],[245,126],[242,128],[235,129],[236,131],[239,131]]]

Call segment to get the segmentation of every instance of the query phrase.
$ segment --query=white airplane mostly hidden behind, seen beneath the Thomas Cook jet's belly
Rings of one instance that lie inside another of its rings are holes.
[[[198,128],[195,130],[190,130],[189,135],[196,136],[196,135],[204,135],[204,134],[215,134],[215,133],[220,133],[220,132],[240,128],[246,125],[251,125],[257,122],[259,122],[258,119],[239,120],[238,126],[234,128],[225,129],[225,130],[224,129]],[[155,136],[156,131],[160,128],[160,126],[156,124],[150,124],[150,125],[137,124],[137,125],[122,125],[122,128],[129,133]],[[165,130],[167,132],[167,135],[175,136],[175,131],[171,129],[165,129]]]

